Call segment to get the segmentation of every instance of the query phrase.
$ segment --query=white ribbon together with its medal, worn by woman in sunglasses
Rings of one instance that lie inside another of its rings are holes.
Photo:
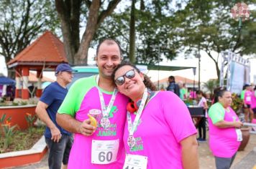
[[[139,110],[137,111],[137,114],[135,116],[134,122],[132,122],[132,117],[131,117],[131,113],[129,111],[127,111],[127,122],[128,122],[128,131],[129,131],[129,137],[127,140],[127,144],[129,146],[129,148],[133,148],[135,145],[135,138],[133,137],[134,131],[138,125],[138,122],[140,120],[140,116],[142,115],[142,111],[145,107],[146,101],[147,101],[147,88],[145,88],[144,93],[143,93],[143,97],[142,97],[142,102],[140,103],[140,107]]]

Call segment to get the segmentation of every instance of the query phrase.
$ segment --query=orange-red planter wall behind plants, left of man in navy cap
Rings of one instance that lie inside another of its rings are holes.
[[[12,117],[11,125],[18,125],[19,129],[27,129],[28,124],[26,121],[26,113],[30,113],[32,116],[35,115],[36,105],[20,105],[20,106],[1,106],[0,117],[6,114],[6,118]]]

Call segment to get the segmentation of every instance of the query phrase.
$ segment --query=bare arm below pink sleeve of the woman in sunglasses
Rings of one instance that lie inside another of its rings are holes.
[[[182,152],[182,163],[184,169],[199,168],[198,162],[198,144],[196,135],[186,137],[180,142]]]

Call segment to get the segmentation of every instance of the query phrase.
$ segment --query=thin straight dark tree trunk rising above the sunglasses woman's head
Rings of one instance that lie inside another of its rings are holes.
[[[135,63],[135,2],[132,0],[131,20],[129,23],[129,61]]]

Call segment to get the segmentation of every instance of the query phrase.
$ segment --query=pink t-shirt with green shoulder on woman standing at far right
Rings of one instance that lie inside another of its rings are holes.
[[[215,105],[215,104],[214,104]],[[214,106],[213,105],[213,106]],[[216,107],[216,110],[218,110]],[[219,128],[216,127],[211,117],[214,118],[214,114],[221,114],[221,112],[214,111],[214,107],[209,110],[209,145],[211,152],[214,156],[219,158],[231,158],[234,153],[237,153],[240,142],[237,141],[237,132],[235,127]],[[224,110],[224,109],[223,109]],[[234,120],[239,120],[234,110],[229,107],[230,112],[224,112],[224,120],[227,122],[232,122]],[[217,115],[219,116],[219,115]]]

